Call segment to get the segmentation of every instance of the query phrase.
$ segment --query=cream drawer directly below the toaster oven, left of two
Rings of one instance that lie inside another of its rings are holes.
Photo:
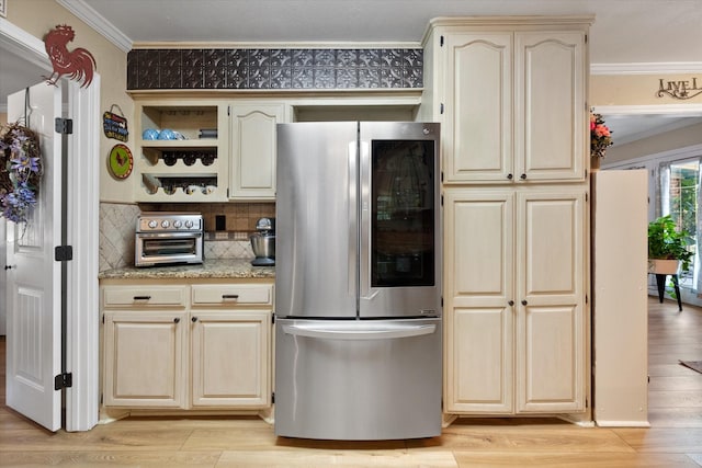
[[[184,307],[186,292],[186,286],[106,286],[102,300],[104,307]]]

